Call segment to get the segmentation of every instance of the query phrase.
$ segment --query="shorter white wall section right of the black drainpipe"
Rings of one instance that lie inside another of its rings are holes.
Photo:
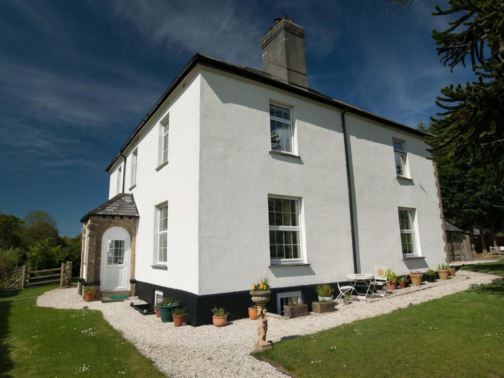
[[[397,273],[445,261],[442,221],[430,153],[422,138],[346,113],[355,188],[359,270],[387,265]],[[405,141],[412,181],[396,176],[392,139]],[[421,255],[403,260],[398,207],[416,209]]]

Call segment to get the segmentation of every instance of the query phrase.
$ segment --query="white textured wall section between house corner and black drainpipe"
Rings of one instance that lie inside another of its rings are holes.
[[[202,70],[200,294],[334,282],[353,272],[340,113],[286,92]],[[293,106],[300,160],[272,155],[270,99]],[[271,267],[268,194],[301,197],[309,266]]]

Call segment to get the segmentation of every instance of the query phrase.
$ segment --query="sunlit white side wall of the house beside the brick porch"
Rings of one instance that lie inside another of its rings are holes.
[[[198,293],[198,191],[200,146],[200,76],[184,81],[146,125],[125,153],[125,192],[140,213],[136,240],[138,281]],[[159,121],[169,113],[168,164],[158,166]],[[138,148],[137,184],[130,191],[132,152]],[[122,158],[119,159],[122,161]],[[109,198],[116,195],[116,163]],[[124,171],[124,168],[123,168]],[[167,270],[153,269],[155,206],[168,201]]]

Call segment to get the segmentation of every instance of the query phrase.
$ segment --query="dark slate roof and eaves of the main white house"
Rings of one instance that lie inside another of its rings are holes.
[[[255,70],[253,68],[249,67],[244,67],[244,66],[235,66],[232,64],[229,64],[223,60],[215,59],[207,55],[203,55],[199,52],[196,52],[196,54],[191,58],[191,60],[185,65],[185,67],[182,69],[182,71],[175,77],[175,79],[170,83],[168,88],[163,92],[163,94],[159,97],[159,99],[156,101],[154,106],[152,106],[151,110],[145,115],[145,117],[142,119],[142,121],[139,123],[137,128],[133,131],[131,134],[130,138],[124,143],[124,145],[121,147],[117,155],[112,159],[110,164],[107,166],[105,169],[106,172],[108,172],[112,166],[115,164],[117,159],[122,155],[125,149],[128,148],[130,145],[130,142],[133,141],[133,139],[140,133],[144,125],[149,121],[149,119],[154,115],[154,113],[159,109],[159,107],[163,104],[163,102],[168,98],[168,96],[177,88],[177,86],[182,83],[182,81],[186,78],[188,74],[193,71],[193,69],[198,66],[205,66],[205,67],[210,67],[219,71],[224,71],[230,74],[234,74],[243,78],[247,78],[250,80],[257,81],[259,83],[267,84],[275,88],[279,88],[282,90],[285,90],[290,93],[297,94],[299,96],[309,98],[314,101],[318,101],[320,103],[333,106],[335,108],[338,108],[340,110],[346,110],[349,113],[353,113],[356,115],[360,115],[362,117],[365,117],[367,119],[372,119],[374,121],[386,124],[390,127],[393,127],[395,129],[402,130],[404,132],[410,133],[417,135],[419,137],[427,137],[431,136],[429,133],[425,133],[421,130],[418,129],[413,129],[410,128],[409,126],[393,121],[391,119],[382,117],[380,115],[373,114],[369,111],[360,109],[356,106],[350,105],[348,103],[345,103],[343,101],[337,100],[335,98],[332,98],[330,96],[324,95],[320,92],[317,92],[313,89],[301,87],[295,84],[291,84],[285,80],[279,79],[271,74],[268,74],[263,71]]]

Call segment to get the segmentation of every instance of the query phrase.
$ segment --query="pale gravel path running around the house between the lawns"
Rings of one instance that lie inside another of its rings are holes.
[[[268,340],[280,341],[284,337],[306,335],[327,330],[344,323],[374,317],[468,289],[472,284],[486,284],[500,278],[484,273],[459,271],[448,281],[436,281],[418,287],[409,287],[385,299],[354,301],[325,314],[287,319],[269,318]],[[178,377],[283,377],[286,375],[266,362],[250,355],[256,340],[256,322],[241,319],[217,328],[213,325],[175,328],[172,323],[161,323],[155,316],[143,316],[124,302],[85,303],[75,287],[54,289],[37,298],[38,306],[80,309],[88,305],[102,311],[103,317],[145,356],[168,375]],[[135,303],[144,303],[133,298]]]

